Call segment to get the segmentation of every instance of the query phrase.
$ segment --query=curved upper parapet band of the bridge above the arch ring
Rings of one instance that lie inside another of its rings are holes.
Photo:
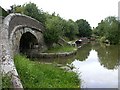
[[[4,19],[3,23],[5,25],[7,25],[7,27],[8,27],[9,37],[10,37],[12,30],[14,30],[14,28],[19,25],[34,28],[34,29],[36,29],[38,31],[42,31],[42,32],[45,31],[42,23],[40,23],[39,21],[37,21],[29,16],[19,14],[19,13],[12,13],[12,14],[8,15]]]

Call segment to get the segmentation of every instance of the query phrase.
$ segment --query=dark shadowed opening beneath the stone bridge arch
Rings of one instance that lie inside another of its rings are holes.
[[[38,46],[38,40],[32,33],[26,32],[21,36],[20,53],[30,53],[32,50],[37,49],[35,46]]]

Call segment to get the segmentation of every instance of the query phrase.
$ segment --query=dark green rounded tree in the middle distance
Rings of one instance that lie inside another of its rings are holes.
[[[78,25],[78,31],[79,31],[78,36],[80,37],[91,36],[92,30],[91,30],[90,24],[86,20],[80,19],[80,20],[77,20],[76,23]]]

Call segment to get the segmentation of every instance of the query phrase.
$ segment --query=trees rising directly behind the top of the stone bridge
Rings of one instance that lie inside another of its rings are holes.
[[[37,19],[43,24],[45,23],[45,20],[46,20],[44,12],[41,9],[38,9],[36,4],[31,2],[26,3],[24,5],[12,5],[11,9],[8,11],[9,13],[21,13],[21,14],[28,15],[32,18]]]

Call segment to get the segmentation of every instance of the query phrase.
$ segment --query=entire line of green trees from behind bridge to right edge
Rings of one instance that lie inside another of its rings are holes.
[[[57,43],[60,37],[67,37],[69,40],[80,37],[97,37],[102,42],[107,40],[111,44],[120,43],[120,22],[114,16],[101,20],[98,26],[92,29],[85,19],[65,20],[59,14],[56,15],[55,12],[49,14],[42,9],[38,9],[37,5],[31,2],[24,5],[12,5],[8,13],[21,13],[40,21],[46,29],[44,37],[49,45]]]

